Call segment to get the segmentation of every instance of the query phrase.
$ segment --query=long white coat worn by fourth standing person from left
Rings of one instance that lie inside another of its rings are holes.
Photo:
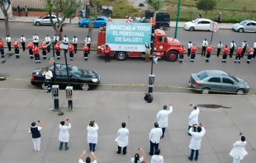
[[[127,128],[120,128],[117,131],[116,142],[119,147],[127,147],[129,139],[129,130]]]

